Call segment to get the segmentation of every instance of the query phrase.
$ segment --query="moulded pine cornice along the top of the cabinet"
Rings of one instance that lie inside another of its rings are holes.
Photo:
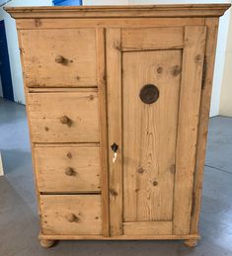
[[[231,4],[6,7],[15,19],[219,17]]]

